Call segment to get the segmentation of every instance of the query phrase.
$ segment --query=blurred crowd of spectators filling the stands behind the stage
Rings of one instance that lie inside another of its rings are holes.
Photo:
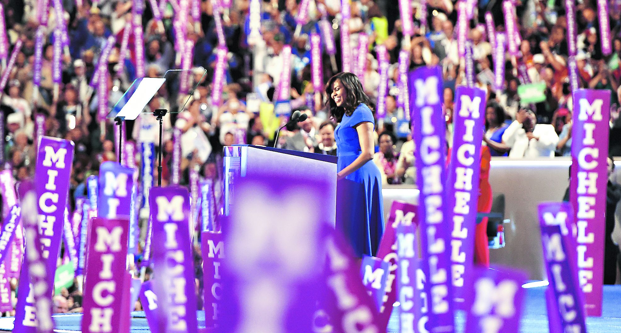
[[[198,0],[197,0],[198,1]],[[137,78],[136,50],[144,50],[145,76],[162,77],[169,69],[179,68],[173,28],[175,0],[162,3],[161,21],[143,1],[101,0],[94,3],[66,0],[63,14],[69,45],[63,52],[61,82],[53,82],[52,43],[56,20],[50,7],[45,31],[40,84],[34,84],[35,33],[37,1],[2,0],[9,54],[18,40],[23,45],[7,72],[7,84],[0,92],[4,113],[4,157],[12,165],[14,176],[21,180],[34,174],[36,129],[43,126],[47,136],[63,137],[75,142],[76,155],[71,179],[71,197],[84,195],[84,181],[96,174],[99,164],[116,160],[114,121],[99,121],[97,93],[89,87],[97,63],[107,63],[109,92],[107,110],[111,110]],[[357,48],[361,33],[369,36],[366,71],[360,77],[366,93],[378,99],[380,75],[376,46],[384,45],[389,57],[388,96],[384,100],[386,116],[377,119],[374,162],[382,171],[385,184],[414,184],[414,142],[409,133],[409,110],[397,103],[399,95],[399,51],[410,54],[409,69],[438,65],[443,71],[443,110],[447,141],[450,144],[455,88],[465,84],[465,63],[458,55],[456,37],[456,1],[429,0],[422,11],[418,0],[412,1],[414,35],[405,36],[396,1],[353,0],[347,19],[350,45],[340,41],[343,20],[341,1],[311,0],[306,24],[296,22],[301,9],[299,0],[260,0],[260,38],[250,38],[250,0],[234,0],[230,8],[214,9],[221,1],[199,1],[200,19],[188,17],[186,40],[193,42],[192,80],[196,89],[190,97],[178,93],[178,83],[170,80],[148,103],[136,121],[127,121],[125,139],[153,142],[160,149],[157,126],[152,113],[166,109],[163,121],[163,184],[171,173],[173,129],[182,132],[182,184],[188,183],[188,168],[197,167],[201,176],[218,178],[218,159],[222,147],[232,144],[276,145],[285,149],[336,155],[334,131],[324,98],[317,95],[311,79],[309,35],[319,33],[319,20],[328,19],[336,43],[336,53],[323,53],[322,79],[342,69],[343,47]],[[350,1],[343,1],[348,3]],[[78,2],[79,3],[79,2]],[[143,4],[143,48],[136,48],[134,35],[129,38],[129,52],[120,59],[121,41],[132,22],[135,4]],[[496,31],[504,30],[501,1],[476,2],[468,40],[473,43],[475,84],[487,91],[484,144],[492,156],[533,158],[568,156],[571,147],[571,85],[568,79],[568,37],[563,1],[517,0],[517,28],[522,36],[519,55],[506,56],[503,89],[494,89],[492,45],[484,26],[484,14],[491,12]],[[583,88],[610,90],[610,154],[621,155],[621,7],[610,5],[612,54],[601,50],[596,1],[579,1],[576,22],[579,85]],[[323,9],[325,13],[322,14]],[[219,43],[217,15],[222,21],[227,47],[222,103],[212,103],[214,72]],[[422,17],[425,15],[425,17]],[[421,26],[421,22],[428,22]],[[298,25],[300,25],[298,27]],[[299,31],[296,31],[299,30]],[[107,38],[117,43],[107,59],[101,58]],[[325,41],[323,41],[325,43]],[[274,114],[274,93],[283,71],[283,48],[291,45],[291,108],[306,113],[307,119],[289,124],[276,142],[276,131],[287,116]],[[4,59],[3,59],[4,60]],[[2,61],[6,66],[6,61]],[[545,100],[521,103],[518,87],[525,78],[518,74],[518,64],[527,69],[528,82],[545,84]],[[122,66],[121,66],[122,65]],[[4,73],[4,68],[3,73]],[[204,75],[204,69],[206,75]],[[119,70],[120,69],[120,70]],[[187,103],[186,103],[187,102]],[[39,122],[39,123],[38,123]],[[154,168],[154,172],[157,169]],[[156,175],[154,175],[154,179]],[[78,191],[76,192],[76,189]],[[82,192],[79,192],[82,191]],[[65,300],[67,297],[65,297]],[[75,298],[73,300],[75,302]],[[60,298],[61,307],[71,308]],[[63,304],[65,305],[63,305]]]

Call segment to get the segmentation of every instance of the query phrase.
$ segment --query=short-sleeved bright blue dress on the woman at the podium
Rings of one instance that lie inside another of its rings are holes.
[[[338,171],[361,154],[355,126],[366,121],[375,124],[371,109],[360,104],[351,116],[343,116],[335,128]],[[356,256],[375,256],[384,233],[384,207],[381,174],[373,160],[337,182],[336,227],[350,242]]]

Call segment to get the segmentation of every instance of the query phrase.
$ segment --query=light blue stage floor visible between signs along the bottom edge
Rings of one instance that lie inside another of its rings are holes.
[[[527,301],[522,316],[520,332],[524,333],[548,333],[548,319],[546,316],[545,298],[543,292],[546,287],[527,289]],[[399,332],[396,312],[393,312],[388,324],[388,332]],[[56,328],[54,332],[78,333],[82,314],[57,314],[54,316]],[[142,311],[132,313],[132,333],[150,332],[147,319]],[[199,326],[205,325],[205,314],[198,312]],[[0,332],[11,332],[13,328],[12,317],[0,318]],[[458,330],[463,332],[464,316],[458,313],[456,316]],[[613,333],[621,332],[621,285],[604,286],[604,313],[599,318],[587,319],[587,331],[589,333]]]

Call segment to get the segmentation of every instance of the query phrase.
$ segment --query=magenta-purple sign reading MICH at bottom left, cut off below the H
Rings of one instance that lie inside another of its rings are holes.
[[[129,293],[125,283],[127,231],[129,221],[122,218],[96,217],[91,221],[88,263],[84,282],[84,316],[82,332],[122,332],[122,322],[129,317],[122,295]]]

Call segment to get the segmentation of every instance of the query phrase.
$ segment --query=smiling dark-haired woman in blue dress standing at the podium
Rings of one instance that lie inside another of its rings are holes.
[[[337,230],[358,257],[374,256],[384,233],[382,179],[373,163],[375,121],[358,77],[333,76],[325,87],[330,116],[338,121]]]

